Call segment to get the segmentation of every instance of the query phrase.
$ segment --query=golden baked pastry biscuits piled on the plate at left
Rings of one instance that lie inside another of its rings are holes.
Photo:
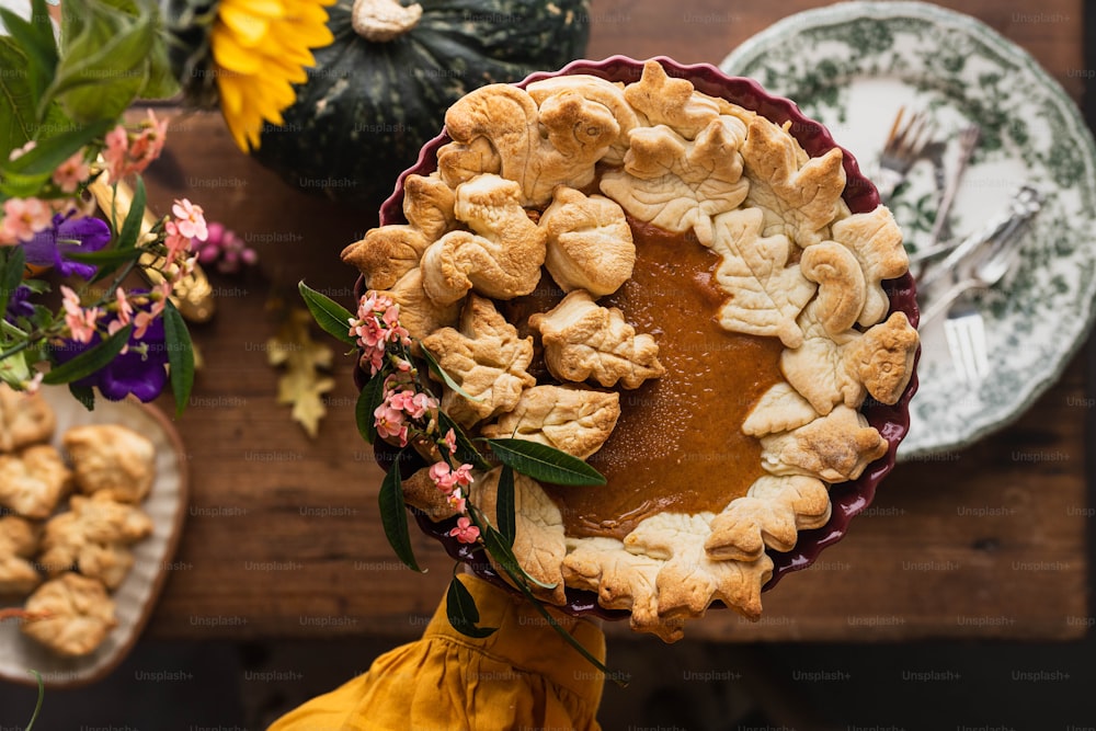
[[[156,455],[125,426],[67,429],[60,449],[56,429],[45,399],[0,384],[0,606],[23,602],[26,636],[81,656],[116,626],[111,593],[152,533]]]

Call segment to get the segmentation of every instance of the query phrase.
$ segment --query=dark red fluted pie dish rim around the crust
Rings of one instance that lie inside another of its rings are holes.
[[[665,57],[659,57],[654,60],[661,64],[670,76],[688,79],[699,92],[726,99],[744,108],[757,112],[780,125],[790,122],[790,134],[811,157],[819,157],[833,148],[840,148],[830,133],[820,123],[803,116],[794,102],[768,94],[752,79],[728,77],[716,67],[706,64],[685,66]],[[639,80],[642,70],[643,61],[624,56],[613,56],[601,61],[574,61],[555,72],[534,73],[516,85],[524,88],[541,79],[580,73],[600,77],[614,82],[623,81],[631,83]],[[400,175],[395,192],[381,206],[381,226],[407,222],[402,208],[404,179],[410,174],[427,175],[434,172],[437,167],[437,151],[448,141],[450,141],[449,137],[443,132],[423,146],[419,160],[412,168]],[[854,214],[874,210],[879,205],[879,194],[875,185],[860,171],[853,156],[847,150],[841,149],[846,176],[845,191],[842,197]],[[910,274],[905,274],[898,279],[884,283],[884,287],[890,297],[891,311],[904,312],[910,322],[916,327],[918,312],[913,277]],[[356,294],[361,296],[363,290],[364,282],[359,277]],[[357,369],[355,372],[355,380],[358,387],[364,386],[367,380],[367,374]],[[889,442],[890,446],[887,454],[869,465],[857,480],[834,484],[831,488],[830,496],[833,510],[829,522],[823,527],[800,532],[795,549],[789,552],[779,552],[769,549],[768,553],[773,559],[774,568],[773,576],[766,583],[765,590],[772,589],[786,573],[807,568],[814,562],[822,549],[844,537],[853,516],[871,504],[879,483],[893,469],[898,446],[909,431],[909,406],[916,389],[917,376],[916,366],[914,366],[910,384],[897,403],[888,406],[872,400],[865,402],[861,412],[867,418],[868,423],[876,427],[883,438]],[[395,448],[378,442],[376,457],[383,468],[387,469],[396,454],[397,450]],[[404,456],[404,459],[410,458]],[[409,475],[415,468],[412,464],[401,465],[401,473]],[[429,535],[437,538],[450,556],[468,562],[480,575],[501,581],[491,569],[482,551],[476,550],[473,547],[465,544],[459,544],[455,538],[448,536],[449,528],[455,525],[455,518],[442,523],[433,523],[422,514],[416,514],[415,517],[420,527]],[[596,596],[591,592],[568,589],[567,596],[568,605],[564,608],[572,614],[592,613],[613,619],[628,616],[628,613],[624,610],[609,610],[600,607]]]

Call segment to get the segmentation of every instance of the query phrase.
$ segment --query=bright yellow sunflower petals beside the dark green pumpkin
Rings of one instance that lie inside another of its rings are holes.
[[[333,41],[323,5],[334,0],[220,0],[209,36],[220,108],[244,152],[263,122],[281,125],[293,84],[316,64],[311,48]]]

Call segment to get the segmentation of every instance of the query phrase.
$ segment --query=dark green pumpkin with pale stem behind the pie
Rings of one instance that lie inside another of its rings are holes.
[[[334,43],[315,52],[285,124],[253,152],[302,190],[377,203],[445,110],[488,83],[518,81],[581,58],[589,0],[338,0]]]

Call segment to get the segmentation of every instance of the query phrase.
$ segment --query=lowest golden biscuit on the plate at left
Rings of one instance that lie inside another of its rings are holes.
[[[45,617],[23,623],[23,633],[68,658],[94,652],[117,625],[103,584],[75,573],[39,586],[26,601],[26,610]]]

